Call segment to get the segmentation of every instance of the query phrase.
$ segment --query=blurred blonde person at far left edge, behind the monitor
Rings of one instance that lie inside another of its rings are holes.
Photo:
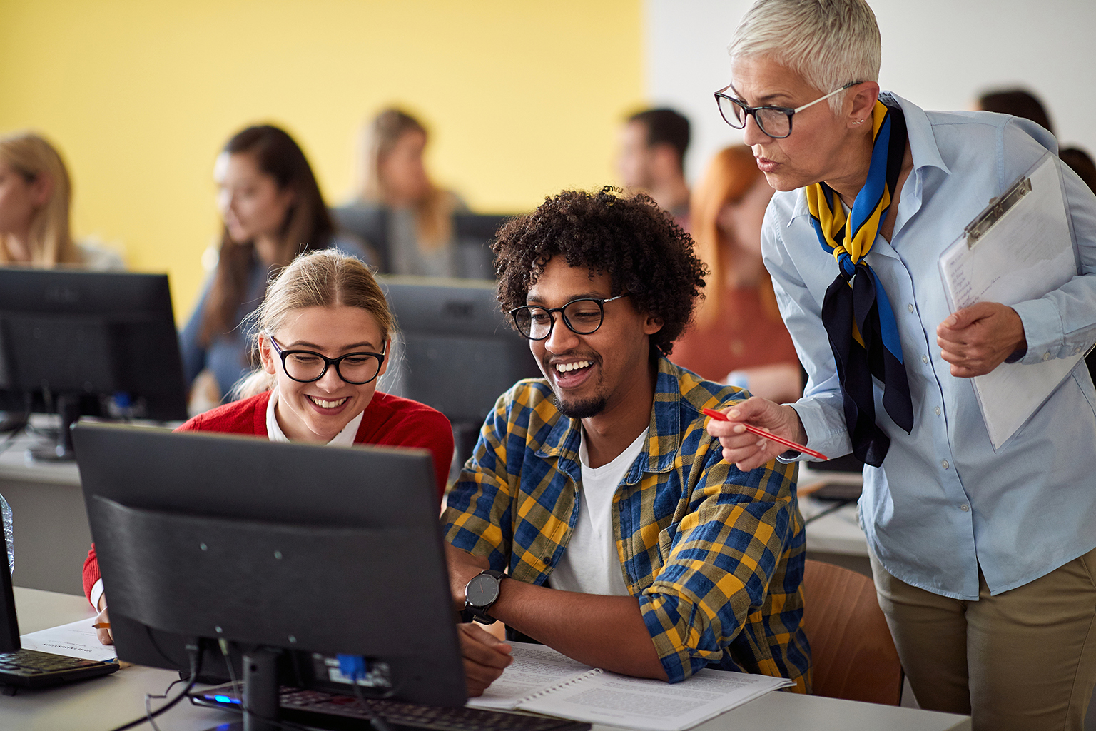
[[[0,265],[123,270],[122,258],[72,241],[72,183],[53,145],[33,133],[0,137]]]

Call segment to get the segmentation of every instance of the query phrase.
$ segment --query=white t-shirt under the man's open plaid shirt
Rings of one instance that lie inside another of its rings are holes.
[[[552,589],[583,594],[628,596],[624,567],[613,532],[613,495],[636,457],[643,450],[648,432],[636,437],[616,459],[602,467],[590,467],[586,434],[582,433],[579,459],[582,462],[582,484],[579,487],[579,519],[563,558],[552,570],[548,584]]]

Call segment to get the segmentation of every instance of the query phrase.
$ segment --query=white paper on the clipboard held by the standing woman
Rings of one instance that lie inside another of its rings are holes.
[[[1077,274],[1059,164],[1047,152],[940,254],[940,277],[952,312],[980,301],[1015,305],[1037,299]],[[1002,363],[971,379],[994,449],[1024,425],[1083,357]]]

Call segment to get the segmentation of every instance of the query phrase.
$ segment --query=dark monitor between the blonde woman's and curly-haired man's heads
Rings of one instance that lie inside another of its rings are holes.
[[[541,376],[529,341],[499,309],[493,282],[384,276],[380,286],[400,331],[381,388],[444,413],[463,462],[499,397]]]

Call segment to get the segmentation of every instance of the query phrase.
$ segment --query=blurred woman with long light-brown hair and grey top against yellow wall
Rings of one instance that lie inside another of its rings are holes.
[[[426,141],[407,112],[380,112],[363,130],[355,198],[334,214],[376,249],[381,272],[460,276],[453,216],[468,207],[430,180]]]

